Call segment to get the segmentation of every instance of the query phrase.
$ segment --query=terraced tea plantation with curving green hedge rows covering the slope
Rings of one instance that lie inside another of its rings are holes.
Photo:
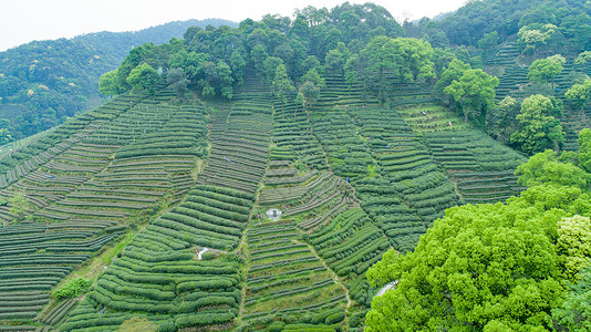
[[[252,74],[231,102],[122,95],[3,147],[0,331],[362,329],[386,250],[522,189],[523,157],[422,87],[326,83],[308,110]]]

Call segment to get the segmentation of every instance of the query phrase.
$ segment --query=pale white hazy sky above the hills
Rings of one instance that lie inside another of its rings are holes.
[[[333,8],[344,0],[2,0],[0,51],[33,40],[72,38],[98,31],[131,31],[188,19],[260,20],[267,13],[289,15],[309,4]],[[367,1],[349,1],[364,3]],[[434,17],[466,0],[375,0],[398,22]]]

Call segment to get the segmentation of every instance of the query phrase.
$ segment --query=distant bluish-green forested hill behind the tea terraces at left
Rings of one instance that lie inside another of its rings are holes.
[[[97,32],[33,41],[0,52],[0,144],[33,135],[100,103],[101,74],[146,42],[182,38],[188,27],[236,25],[227,20],[169,22],[135,32]]]

